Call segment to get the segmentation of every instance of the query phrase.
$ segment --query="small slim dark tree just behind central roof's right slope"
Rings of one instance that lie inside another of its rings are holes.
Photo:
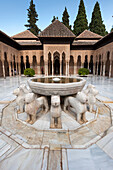
[[[65,10],[63,12],[62,22],[67,28],[71,29],[71,25],[69,25],[69,17],[70,16],[67,12],[67,8],[65,7]]]

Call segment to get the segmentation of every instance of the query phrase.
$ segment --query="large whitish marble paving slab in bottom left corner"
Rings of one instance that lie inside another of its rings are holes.
[[[41,170],[43,150],[19,149],[0,164],[0,170]]]

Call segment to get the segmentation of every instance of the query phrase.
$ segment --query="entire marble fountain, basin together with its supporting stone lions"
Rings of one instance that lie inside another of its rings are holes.
[[[28,80],[28,84],[31,91],[26,85],[21,85],[14,91],[17,95],[18,113],[25,108],[27,123],[34,124],[37,121],[37,111],[41,109],[38,117],[49,113],[51,129],[62,129],[62,111],[73,113],[79,124],[87,122],[87,104],[89,103],[92,112],[96,103],[95,96],[98,94],[92,85],[82,91],[86,80],[80,77],[34,77]]]

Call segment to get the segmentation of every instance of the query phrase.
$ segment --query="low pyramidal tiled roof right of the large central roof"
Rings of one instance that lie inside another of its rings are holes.
[[[101,39],[102,36],[89,30],[84,30],[76,39]]]

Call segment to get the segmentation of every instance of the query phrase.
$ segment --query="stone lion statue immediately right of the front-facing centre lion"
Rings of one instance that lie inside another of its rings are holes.
[[[78,92],[76,97],[67,97],[64,101],[64,111],[67,110],[75,114],[78,123],[87,122],[85,112],[87,111],[87,96],[83,92]]]

